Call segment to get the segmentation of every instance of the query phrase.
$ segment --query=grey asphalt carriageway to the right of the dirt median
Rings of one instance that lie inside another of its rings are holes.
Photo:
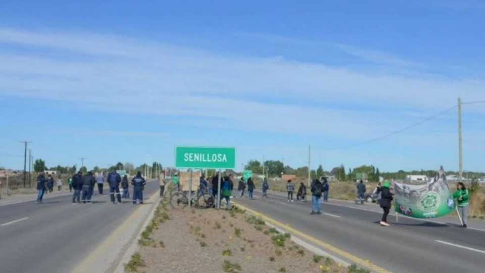
[[[485,272],[485,231],[393,216],[383,227],[381,214],[338,204],[310,215],[311,202],[274,194],[235,201],[392,272]]]

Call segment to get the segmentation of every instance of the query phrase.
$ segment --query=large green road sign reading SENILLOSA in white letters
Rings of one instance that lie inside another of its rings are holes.
[[[235,166],[236,148],[175,147],[176,168],[233,169]]]

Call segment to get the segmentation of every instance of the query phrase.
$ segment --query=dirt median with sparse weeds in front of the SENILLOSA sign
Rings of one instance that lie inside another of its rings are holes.
[[[292,242],[289,234],[280,234],[262,219],[237,208],[173,210],[160,205],[147,229],[151,232],[142,236],[145,239],[140,240],[136,257],[142,266],[129,270],[349,272],[349,268],[314,255]]]

